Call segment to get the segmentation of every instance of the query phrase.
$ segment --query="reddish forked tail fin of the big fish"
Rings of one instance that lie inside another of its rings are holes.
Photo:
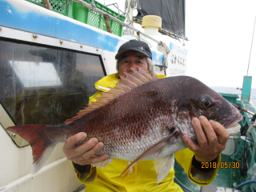
[[[42,168],[46,160],[49,158],[54,146],[47,137],[45,128],[50,128],[48,125],[21,125],[21,126],[10,126],[7,130],[13,131],[19,134],[27,142],[33,150],[33,170],[32,174],[35,174]]]

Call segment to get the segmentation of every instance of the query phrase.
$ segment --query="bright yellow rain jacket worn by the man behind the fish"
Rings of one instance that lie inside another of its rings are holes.
[[[166,78],[165,75],[157,75],[158,78]],[[117,74],[110,74],[95,83],[98,92],[90,97],[90,102],[96,102],[97,98],[102,97],[102,91],[107,92],[107,86],[114,87],[115,82],[120,82]],[[192,166],[193,151],[186,148],[176,152],[175,158],[183,167],[190,178],[190,181],[199,186],[207,186],[214,181],[218,169],[210,172],[201,172]],[[180,186],[174,183],[174,168],[170,169],[169,174],[165,179],[157,185],[157,174],[154,169],[154,160],[141,161],[129,169],[128,175],[122,175],[122,171],[130,162],[120,159],[113,159],[111,164],[108,164],[103,169],[93,166],[87,166],[85,173],[79,173],[74,168],[79,182],[86,185],[86,191],[183,191]],[[220,155],[218,157],[220,162]],[[73,164],[72,164],[73,165]],[[74,165],[73,165],[74,167]],[[128,171],[126,171],[128,172]],[[118,179],[119,178],[119,179]]]

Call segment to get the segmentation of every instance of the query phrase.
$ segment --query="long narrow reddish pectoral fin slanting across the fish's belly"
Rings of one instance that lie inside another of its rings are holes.
[[[149,149],[145,150],[141,155],[138,156],[134,160],[134,162],[130,163],[129,166],[126,167],[124,171],[122,171],[122,174],[126,172],[130,167],[134,166],[137,162],[142,161],[144,158],[150,158],[152,155],[157,154],[163,150],[163,148],[167,145],[168,140],[174,135],[170,134],[166,138],[163,138],[161,141],[154,144],[154,146],[150,146]],[[119,176],[119,178],[122,176],[122,174]]]

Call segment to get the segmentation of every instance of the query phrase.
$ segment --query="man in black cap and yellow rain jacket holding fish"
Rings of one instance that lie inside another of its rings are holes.
[[[90,102],[96,102],[102,96],[102,91],[107,92],[104,87],[114,87],[115,82],[120,82],[119,75],[126,77],[130,68],[147,70],[154,74],[154,64],[150,47],[146,42],[130,40],[120,46],[117,59],[117,74],[110,74],[95,83],[98,92],[90,97]],[[165,78],[164,75],[157,75],[158,78]],[[209,167],[204,169],[202,162],[220,162],[220,153],[226,147],[229,134],[218,122],[208,121],[201,116],[193,118],[192,125],[198,138],[198,144],[194,144],[188,136],[183,136],[185,150],[175,153],[177,162],[184,168],[191,182],[199,186],[209,185],[214,181],[218,169]],[[157,184],[157,174],[154,169],[154,160],[141,161],[129,169],[129,175],[118,177],[122,170],[128,166],[124,160],[114,159],[104,169],[91,166],[91,163],[103,162],[109,158],[108,154],[100,157],[94,156],[102,150],[104,144],[98,142],[97,138],[91,138],[82,146],[75,146],[86,138],[86,133],[78,133],[68,138],[63,146],[66,157],[72,162],[74,171],[79,182],[86,185],[86,191],[182,191],[180,186],[174,183],[174,168],[160,184]],[[214,165],[213,163],[209,165]]]

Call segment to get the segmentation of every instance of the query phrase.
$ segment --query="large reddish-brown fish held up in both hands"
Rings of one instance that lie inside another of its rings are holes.
[[[11,126],[7,130],[30,142],[34,157],[32,173],[42,168],[58,142],[85,132],[84,142],[98,138],[104,143],[97,155],[110,155],[94,166],[103,168],[113,158],[134,161],[130,166],[155,159],[161,182],[172,166],[174,153],[186,148],[182,136],[188,135],[197,143],[191,120],[200,115],[226,128],[242,120],[230,102],[197,79],[187,76],[158,79],[140,69],[126,74],[122,82],[102,93],[102,98],[80,110],[66,124]],[[124,171],[120,170],[120,174]]]

